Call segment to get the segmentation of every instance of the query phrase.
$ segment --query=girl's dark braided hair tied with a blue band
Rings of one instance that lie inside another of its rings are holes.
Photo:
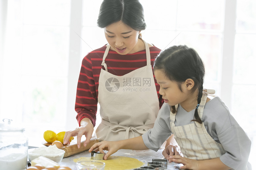
[[[202,59],[193,48],[189,48],[186,45],[179,45],[163,50],[154,61],[154,70],[162,70],[169,80],[178,83],[181,91],[181,83],[187,79],[192,79],[194,81],[192,90],[195,91],[198,89],[197,103],[200,104],[205,67]],[[194,120],[191,121],[202,123],[197,110],[196,108]],[[173,113],[177,112],[175,106],[171,106],[171,111]]]

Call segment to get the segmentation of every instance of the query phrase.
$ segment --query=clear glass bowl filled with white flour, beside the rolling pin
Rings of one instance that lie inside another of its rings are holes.
[[[34,151],[35,149],[37,149],[37,148],[28,149],[28,159],[29,159],[30,163],[31,163],[31,161],[33,159],[38,158],[39,156],[43,156],[43,157],[51,159],[54,162],[60,163],[62,161],[63,157],[64,157],[64,154],[65,154],[65,151],[61,150],[61,149],[60,149],[61,153],[58,153],[58,154],[50,154],[50,153],[40,153],[40,154],[38,154],[38,153],[32,153],[32,151]]]

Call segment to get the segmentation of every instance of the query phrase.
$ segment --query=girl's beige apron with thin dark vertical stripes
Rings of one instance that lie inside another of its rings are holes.
[[[198,115],[201,119],[207,99],[207,93],[214,94],[215,90],[203,90],[201,102],[198,107]],[[175,107],[177,109],[178,105]],[[193,122],[184,126],[175,126],[175,115],[176,113],[170,113],[171,131],[185,158],[194,160],[213,159],[219,158],[226,152],[222,145],[213,140],[207,133],[204,123],[200,124],[198,122]]]

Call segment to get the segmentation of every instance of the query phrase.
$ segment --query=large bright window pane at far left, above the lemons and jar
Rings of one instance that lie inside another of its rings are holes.
[[[71,2],[7,2],[1,118],[43,141],[45,130],[65,131],[67,124]]]

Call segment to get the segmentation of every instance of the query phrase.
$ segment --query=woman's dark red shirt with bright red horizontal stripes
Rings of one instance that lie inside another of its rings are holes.
[[[153,68],[154,59],[160,53],[157,47],[150,47],[151,65]],[[87,117],[93,125],[96,122],[97,104],[98,104],[98,87],[99,74],[104,67],[101,65],[102,58],[106,46],[88,53],[83,61],[77,83],[77,97],[75,110],[77,112],[77,121],[80,126],[80,121]],[[133,54],[120,55],[113,50],[109,50],[107,58],[107,71],[117,76],[123,76],[135,69],[146,66],[146,50],[139,51]],[[152,70],[153,72],[153,70]],[[154,72],[153,72],[154,74]],[[155,80],[155,79],[154,79]],[[159,95],[160,86],[155,80],[157,95],[159,98],[159,105],[163,104],[162,96]]]

